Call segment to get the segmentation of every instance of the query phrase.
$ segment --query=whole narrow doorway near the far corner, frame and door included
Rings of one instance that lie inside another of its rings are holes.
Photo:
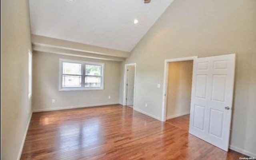
[[[134,108],[136,63],[124,67],[124,106]]]

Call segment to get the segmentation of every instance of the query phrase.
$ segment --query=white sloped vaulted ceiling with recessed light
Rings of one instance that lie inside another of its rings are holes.
[[[30,0],[32,34],[131,51],[172,1]]]

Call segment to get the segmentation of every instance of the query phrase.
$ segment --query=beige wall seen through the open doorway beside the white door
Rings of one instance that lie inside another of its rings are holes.
[[[193,61],[170,62],[168,67],[167,119],[190,113]]]

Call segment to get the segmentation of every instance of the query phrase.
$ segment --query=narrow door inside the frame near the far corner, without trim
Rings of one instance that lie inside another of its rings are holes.
[[[127,71],[126,105],[133,105],[133,101],[134,101],[135,65],[129,65],[127,67],[126,71]]]

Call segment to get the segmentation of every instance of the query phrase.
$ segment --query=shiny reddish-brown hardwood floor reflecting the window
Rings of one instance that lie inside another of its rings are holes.
[[[188,115],[160,122],[111,105],[33,113],[21,160],[239,160],[188,134]]]

